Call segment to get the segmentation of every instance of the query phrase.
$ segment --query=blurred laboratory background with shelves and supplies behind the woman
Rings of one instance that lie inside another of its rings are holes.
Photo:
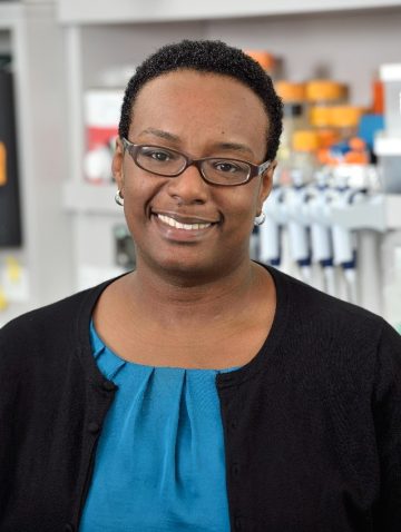
[[[184,38],[243,49],[284,102],[252,257],[401,333],[401,0],[0,0],[0,326],[135,268],[121,98]]]

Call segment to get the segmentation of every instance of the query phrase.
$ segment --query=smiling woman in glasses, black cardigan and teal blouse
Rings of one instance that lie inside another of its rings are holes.
[[[401,339],[250,260],[281,101],[183,41],[128,83],[137,269],[0,334],[1,531],[395,531]]]

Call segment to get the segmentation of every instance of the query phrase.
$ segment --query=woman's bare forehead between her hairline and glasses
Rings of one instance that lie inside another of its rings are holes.
[[[228,76],[193,70],[168,72],[148,81],[133,108],[130,132],[166,130],[261,145],[265,151],[267,116],[252,89]]]

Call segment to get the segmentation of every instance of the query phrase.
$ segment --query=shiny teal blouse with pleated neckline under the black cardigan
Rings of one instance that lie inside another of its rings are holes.
[[[80,532],[228,532],[215,378],[229,370],[154,367],[114,354],[90,326],[118,391],[100,434]]]

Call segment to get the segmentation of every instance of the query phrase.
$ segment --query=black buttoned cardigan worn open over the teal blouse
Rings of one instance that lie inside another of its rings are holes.
[[[232,530],[399,532],[401,338],[380,317],[271,272],[277,311],[264,346],[216,378]],[[0,331],[1,532],[78,530],[118,393],[89,343],[108,283]]]

